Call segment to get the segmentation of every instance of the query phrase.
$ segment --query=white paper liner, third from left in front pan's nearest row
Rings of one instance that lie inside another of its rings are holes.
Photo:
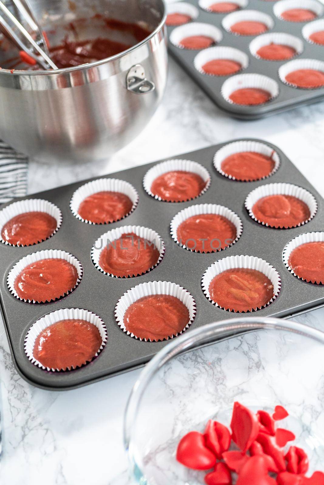
[[[247,268],[252,270],[257,270],[263,273],[264,275],[269,278],[273,284],[273,297],[271,300],[266,304],[262,305],[261,307],[251,308],[248,311],[256,311],[261,308],[267,307],[272,303],[276,297],[278,296],[281,288],[281,279],[279,273],[269,264],[267,261],[261,258],[256,258],[255,256],[228,256],[227,258],[220,259],[213,263],[209,268],[206,269],[203,278],[202,278],[202,288],[205,294],[205,297],[216,307],[225,309],[218,305],[217,302],[214,302],[209,293],[209,285],[211,281],[215,278],[215,276],[220,275],[226,270],[234,269],[234,268]],[[235,311],[235,310],[227,310],[227,311]],[[237,312],[236,313],[246,313],[246,312]]]

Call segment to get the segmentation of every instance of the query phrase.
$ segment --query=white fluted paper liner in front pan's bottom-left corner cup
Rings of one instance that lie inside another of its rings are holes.
[[[41,369],[44,369],[44,371],[47,370],[52,372],[61,372],[61,371],[65,372],[65,371],[70,371],[72,369],[77,369],[78,367],[82,367],[83,365],[90,362],[90,361],[86,361],[84,364],[82,364],[82,366],[76,366],[76,367],[71,366],[66,369],[53,369],[53,368],[43,366],[43,364],[41,364],[38,360],[34,358],[34,355],[33,355],[34,344],[40,332],[42,332],[45,328],[52,325],[53,323],[59,322],[61,320],[74,320],[74,319],[85,320],[86,322],[92,323],[98,328],[100,332],[100,336],[102,338],[102,344],[97,350],[94,357],[97,357],[100,354],[100,352],[102,351],[107,341],[107,328],[106,328],[106,325],[103,323],[102,319],[98,317],[98,315],[96,315],[95,313],[92,313],[91,311],[85,310],[83,308],[62,308],[60,310],[52,311],[51,313],[48,313],[47,315],[44,315],[44,317],[37,320],[35,323],[33,323],[33,325],[30,327],[30,329],[26,334],[25,344],[24,344],[25,353],[29,358],[29,360],[35,366],[40,367]]]

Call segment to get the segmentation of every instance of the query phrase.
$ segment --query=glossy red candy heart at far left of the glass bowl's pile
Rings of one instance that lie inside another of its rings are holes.
[[[204,435],[198,431],[191,431],[181,438],[176,459],[194,470],[208,470],[216,464],[215,455],[206,448]]]

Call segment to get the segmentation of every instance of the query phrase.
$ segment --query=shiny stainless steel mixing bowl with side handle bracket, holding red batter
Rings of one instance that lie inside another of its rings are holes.
[[[58,71],[0,71],[0,137],[42,162],[102,160],[127,145],[157,108],[167,77],[163,0],[31,0],[42,28],[102,16],[152,33],[124,52]],[[0,65],[8,53],[0,53]]]

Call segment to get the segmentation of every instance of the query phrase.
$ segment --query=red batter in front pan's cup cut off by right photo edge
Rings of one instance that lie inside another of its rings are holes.
[[[324,284],[324,242],[306,242],[291,251],[288,264],[295,275]]]

